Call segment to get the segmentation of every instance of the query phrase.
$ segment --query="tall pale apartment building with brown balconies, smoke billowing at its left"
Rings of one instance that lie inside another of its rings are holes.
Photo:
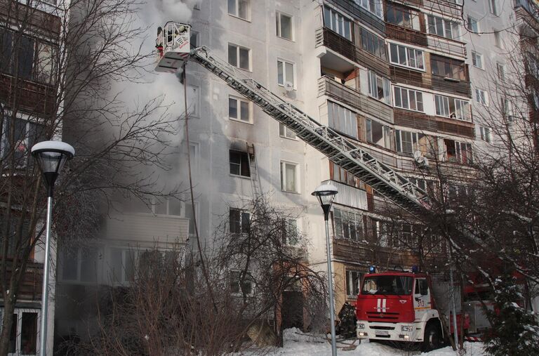
[[[474,145],[491,140],[475,113],[489,100],[481,78],[503,63],[503,51],[496,50],[503,41],[496,33],[523,7],[522,1],[466,1],[465,8],[462,3],[203,0],[193,10],[191,41],[208,46],[423,189],[436,185],[437,167],[458,172],[447,187],[458,194],[460,178],[472,174]],[[479,34],[478,24],[494,30]],[[268,194],[273,204],[295,211],[297,218],[288,223],[310,242],[305,263],[325,271],[324,220],[311,192],[331,181],[339,191],[330,231],[336,308],[354,303],[368,265],[417,263],[413,242],[406,243],[413,226],[387,216],[387,202],[371,187],[204,68],[188,64],[186,84],[192,142],[187,147],[178,138],[182,153],[168,178],[187,181],[190,152],[198,228],[207,246],[223,220],[230,232],[241,232],[248,202]],[[88,289],[113,281],[128,286],[132,276],[125,268],[118,271],[136,263],[145,249],[156,242],[164,250],[192,243],[187,241],[194,232],[191,211],[188,203],[173,201],[156,203],[151,211],[133,206],[107,220],[95,247],[62,256],[58,289],[65,312],[57,312],[58,333],[84,334],[87,316],[74,316],[73,310],[91,303],[82,303]]]

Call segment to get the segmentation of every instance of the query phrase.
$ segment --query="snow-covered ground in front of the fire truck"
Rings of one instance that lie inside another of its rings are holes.
[[[283,334],[284,347],[273,348],[267,355],[287,355],[287,356],[327,356],[331,355],[331,343],[320,336],[310,336],[303,334],[299,329],[286,329]],[[361,344],[356,340],[347,340],[337,343],[337,353],[343,356],[455,356],[458,355],[451,349],[451,346],[434,350],[431,352],[409,351],[404,348],[393,348],[389,345],[381,343],[369,343],[362,341]],[[482,343],[465,343],[466,356],[483,356]],[[257,355],[260,353],[253,351],[252,353],[241,355]]]

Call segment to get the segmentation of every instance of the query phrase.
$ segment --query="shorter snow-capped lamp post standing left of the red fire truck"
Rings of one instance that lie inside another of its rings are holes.
[[[329,225],[328,216],[333,199],[338,193],[335,185],[323,184],[317,187],[312,195],[318,198],[320,206],[324,211],[324,220],[326,221],[326,253],[328,259],[328,288],[329,288],[329,314],[331,316],[331,355],[337,355],[337,344],[335,341],[335,305],[333,305],[333,272],[331,272],[331,251],[329,243]]]

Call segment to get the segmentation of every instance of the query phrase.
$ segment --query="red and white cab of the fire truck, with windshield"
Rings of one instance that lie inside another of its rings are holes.
[[[357,337],[423,342],[426,349],[441,343],[438,310],[430,279],[413,272],[381,272],[364,276],[357,296]]]

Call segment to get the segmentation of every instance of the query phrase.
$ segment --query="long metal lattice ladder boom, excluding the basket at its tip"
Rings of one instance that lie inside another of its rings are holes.
[[[195,48],[191,51],[189,60],[198,62],[223,79],[228,86],[291,129],[305,143],[364,183],[371,185],[380,195],[391,199],[408,211],[422,211],[428,208],[426,193],[404,176],[375,159],[356,143],[352,143],[328,126],[322,126],[236,67],[211,55],[208,48]]]

